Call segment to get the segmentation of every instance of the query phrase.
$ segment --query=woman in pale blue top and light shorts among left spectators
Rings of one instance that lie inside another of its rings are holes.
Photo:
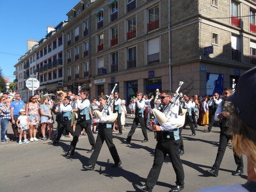
[[[49,105],[49,100],[46,97],[42,97],[40,100],[40,113],[41,113],[41,124],[42,124],[42,135],[43,140],[47,140],[45,136],[45,130],[47,129],[47,125],[49,127],[49,134],[48,138],[51,138],[53,125],[52,125],[52,115],[51,115],[51,108],[52,106]]]

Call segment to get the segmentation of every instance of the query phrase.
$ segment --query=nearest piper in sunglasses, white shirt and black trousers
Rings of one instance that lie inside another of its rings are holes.
[[[176,186],[174,186],[170,191],[174,192],[184,189],[184,170],[179,156],[179,146],[181,141],[179,137],[179,128],[177,128],[179,123],[179,105],[175,105],[170,113],[172,97],[173,93],[168,90],[161,92],[160,99],[164,106],[163,113],[164,115],[170,115],[166,116],[168,120],[163,125],[157,125],[158,122],[156,119],[155,124],[152,125],[152,131],[156,131],[157,135],[154,164],[148,173],[146,183],[144,185],[135,184],[136,188],[140,189],[140,191],[152,191],[157,183],[166,154],[168,154],[171,159],[177,179]]]

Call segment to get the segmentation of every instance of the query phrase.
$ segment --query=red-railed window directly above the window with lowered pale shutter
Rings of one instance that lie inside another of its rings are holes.
[[[159,5],[148,10],[148,31],[159,28]]]

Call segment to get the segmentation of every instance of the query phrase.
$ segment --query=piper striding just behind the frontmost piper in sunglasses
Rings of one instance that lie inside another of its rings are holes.
[[[102,96],[100,96],[99,100],[100,100],[100,104],[101,104],[100,111],[102,111],[102,109],[104,109],[104,106],[107,104],[107,97],[105,95],[102,95]],[[111,118],[111,114],[112,114],[111,106],[109,105],[106,110],[107,110],[106,111],[107,113],[105,113],[106,114],[105,116],[103,115],[102,118],[93,119],[93,123],[97,123],[97,122],[99,123],[99,125],[98,125],[99,132],[98,132],[98,136],[96,139],[95,148],[92,153],[92,156],[90,157],[90,159],[88,161],[88,165],[87,166],[83,165],[83,168],[85,170],[94,170],[96,161],[100,154],[100,149],[101,149],[104,141],[106,141],[106,143],[108,145],[109,152],[115,162],[113,167],[118,167],[122,164],[122,161],[120,160],[120,157],[116,150],[115,144],[113,143],[112,125],[108,123],[108,121]]]

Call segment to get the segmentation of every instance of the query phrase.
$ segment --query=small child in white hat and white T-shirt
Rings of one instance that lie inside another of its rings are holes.
[[[19,135],[19,145],[22,144],[22,134],[24,136],[24,143],[29,143],[27,140],[27,129],[29,124],[29,118],[25,115],[25,109],[20,109],[20,116],[16,122],[17,127],[20,129],[20,135]]]

